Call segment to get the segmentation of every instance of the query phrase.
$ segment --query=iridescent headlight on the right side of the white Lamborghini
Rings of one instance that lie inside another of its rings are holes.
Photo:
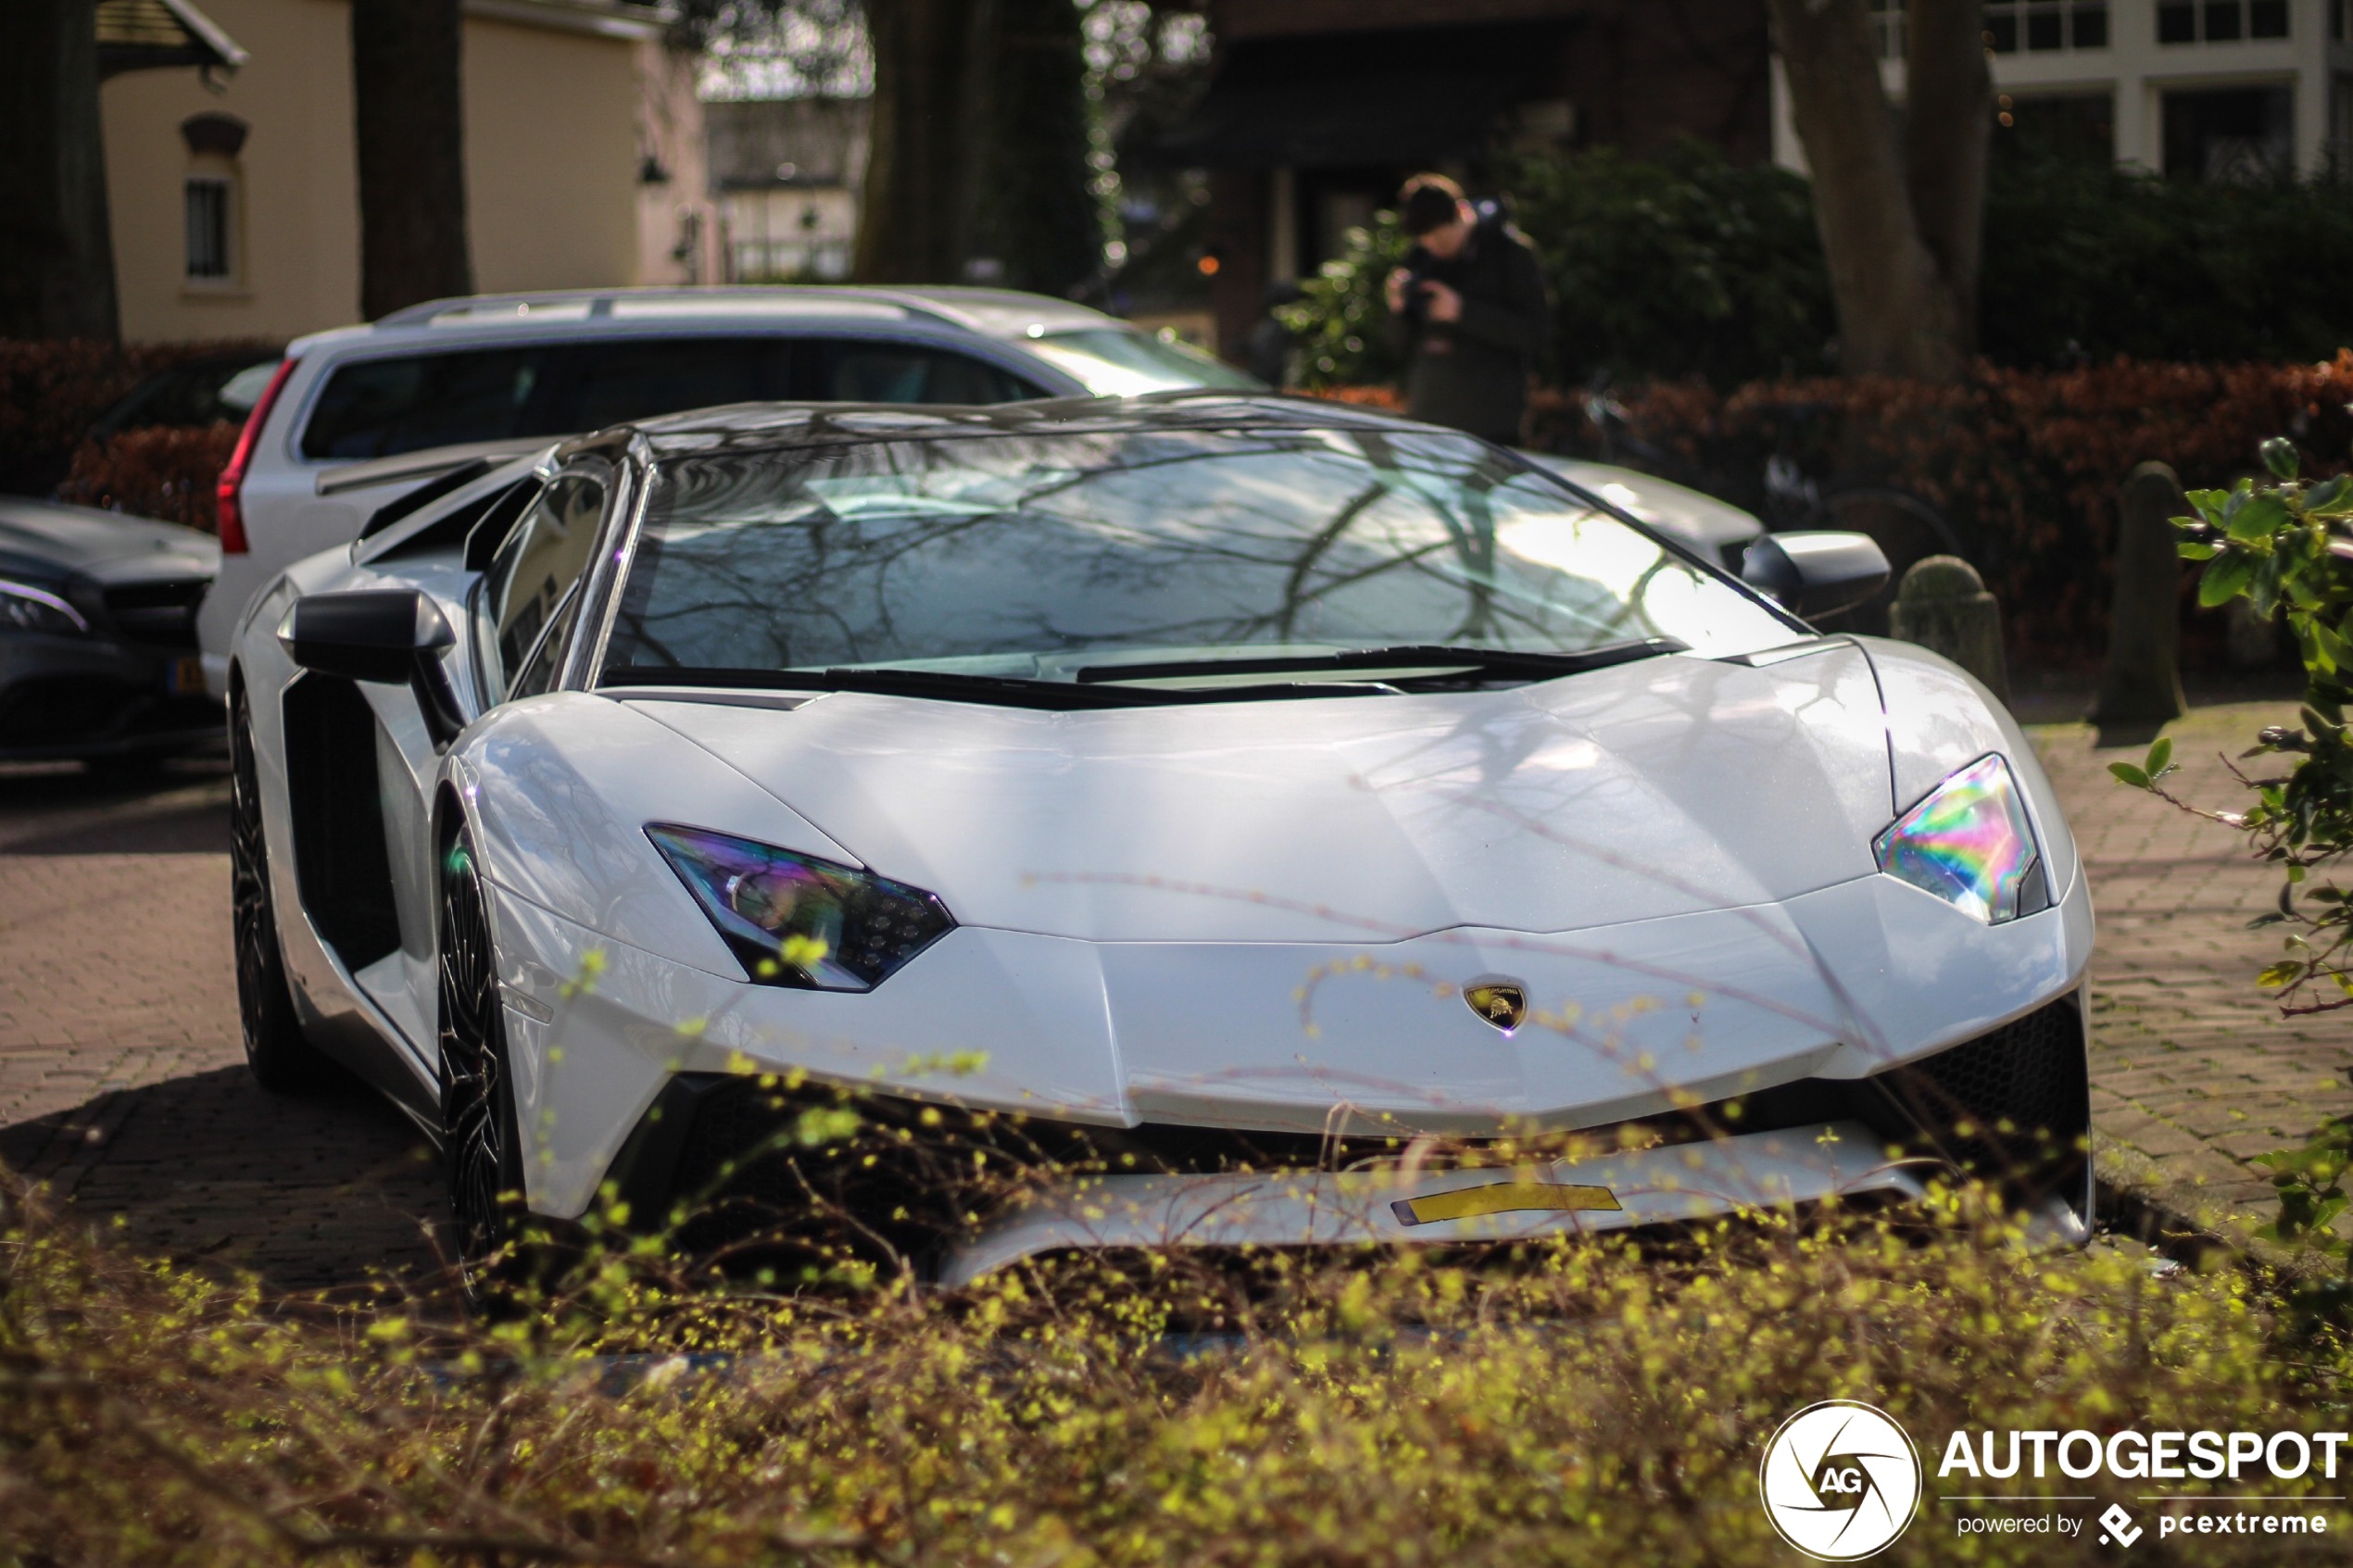
[[[1880,870],[1988,926],[2047,910],[2049,879],[2000,757],[1979,757],[1873,839]]]

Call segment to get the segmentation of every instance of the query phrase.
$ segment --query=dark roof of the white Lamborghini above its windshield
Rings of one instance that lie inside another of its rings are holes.
[[[986,407],[744,402],[666,414],[600,430],[565,449],[612,447],[638,437],[654,458],[944,435],[1104,435],[1129,430],[1398,430],[1438,435],[1360,404],[1275,393],[1176,390],[1139,397],[1040,397]],[[1452,433],[1449,433],[1452,435]]]

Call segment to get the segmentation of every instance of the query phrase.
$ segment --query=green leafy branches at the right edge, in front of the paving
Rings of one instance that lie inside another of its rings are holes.
[[[2353,851],[2353,477],[2304,482],[2301,454],[2287,437],[2264,442],[2271,484],[2240,480],[2235,489],[2193,489],[2193,517],[2174,517],[2181,557],[2205,562],[2198,602],[2247,599],[2264,618],[2285,616],[2304,661],[2299,724],[2266,729],[2247,759],[2275,759],[2245,811],[2200,811],[2240,827],[2254,853],[2280,867],[2280,903],[2257,924],[2285,926],[2278,964],[2257,985],[2273,992],[2282,1013],[2353,1009],[2353,889],[2334,882]],[[2273,771],[2285,764],[2285,771]],[[2118,780],[2162,790],[2174,771],[2172,741],[2148,757],[2108,764]],[[2195,811],[2184,802],[2177,806]],[[2266,1154],[2280,1192],[2280,1218],[2266,1227],[2275,1241],[2301,1241],[2346,1260],[2353,1246],[2332,1229],[2353,1201],[2353,1117],[2329,1117],[2297,1150]]]

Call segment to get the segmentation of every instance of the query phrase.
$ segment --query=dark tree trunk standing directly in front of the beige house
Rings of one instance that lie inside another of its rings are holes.
[[[459,0],[351,0],[360,315],[473,292]]]

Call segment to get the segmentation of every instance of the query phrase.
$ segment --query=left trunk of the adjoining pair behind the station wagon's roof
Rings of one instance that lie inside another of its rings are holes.
[[[866,0],[875,96],[859,282],[962,282],[981,45],[993,21],[995,0]]]

